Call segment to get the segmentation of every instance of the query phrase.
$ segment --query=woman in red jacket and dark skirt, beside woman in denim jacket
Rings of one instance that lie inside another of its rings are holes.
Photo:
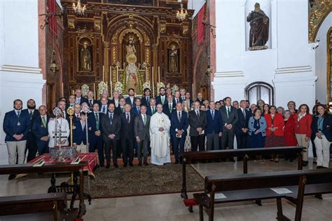
[[[278,114],[277,107],[270,106],[270,113],[265,114],[266,128],[265,147],[284,147],[284,119],[282,114]],[[279,155],[272,156],[271,161],[279,162]]]

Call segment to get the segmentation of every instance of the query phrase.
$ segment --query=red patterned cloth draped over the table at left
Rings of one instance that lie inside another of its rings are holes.
[[[84,171],[88,172],[88,175],[92,175],[95,177],[95,173],[93,173],[93,170],[95,169],[95,166],[99,165],[99,159],[98,154],[96,152],[92,153],[81,153],[78,154],[78,157],[81,159],[82,162],[87,162],[87,166],[83,167]],[[43,154],[41,156],[37,156],[32,161],[29,161],[28,163],[36,163],[38,161],[44,160],[45,163],[57,163],[56,159],[50,159],[50,154]],[[64,162],[70,163],[71,159],[66,159]]]

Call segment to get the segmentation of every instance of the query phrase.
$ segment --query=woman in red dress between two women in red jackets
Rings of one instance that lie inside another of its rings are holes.
[[[284,112],[284,138],[285,138],[285,146],[297,146],[298,142],[295,137],[295,118],[292,116],[289,110]],[[285,155],[285,160],[293,162],[296,156]]]

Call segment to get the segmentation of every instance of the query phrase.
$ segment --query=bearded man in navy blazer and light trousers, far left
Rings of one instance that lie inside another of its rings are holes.
[[[10,165],[16,164],[16,154],[18,154],[18,163],[24,163],[27,134],[30,129],[29,114],[22,112],[22,100],[14,100],[13,105],[14,109],[5,114],[3,126]],[[9,175],[8,180],[13,180],[13,178],[15,178],[15,174]]]

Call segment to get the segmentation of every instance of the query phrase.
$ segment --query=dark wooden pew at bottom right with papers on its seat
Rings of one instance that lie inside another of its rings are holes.
[[[307,192],[305,191],[306,185],[311,186]],[[275,187],[285,187],[293,193],[277,194],[270,189]],[[293,198],[292,202],[296,204],[295,220],[300,221],[303,196],[314,194],[313,189],[320,194],[332,192],[332,169],[207,176],[205,192],[193,194],[193,196],[199,204],[200,221],[204,219],[203,210],[209,215],[210,221],[214,220],[214,204],[216,203],[250,201],[257,198],[277,199],[277,220],[290,220],[282,213],[282,198]],[[220,193],[224,194],[226,198],[217,197],[215,199],[216,194]]]

